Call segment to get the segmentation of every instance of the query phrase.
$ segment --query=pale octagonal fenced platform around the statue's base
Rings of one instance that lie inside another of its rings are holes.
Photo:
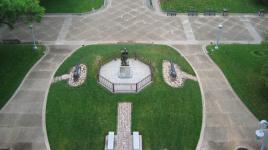
[[[104,64],[100,68],[99,83],[114,93],[139,92],[152,82],[151,69],[138,59],[129,59],[131,77],[120,78],[120,59]]]

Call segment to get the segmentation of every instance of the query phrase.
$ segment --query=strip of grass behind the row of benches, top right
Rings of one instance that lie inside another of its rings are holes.
[[[234,13],[256,13],[259,9],[268,10],[268,6],[261,0],[160,0],[163,10],[175,9],[179,12],[187,12],[195,9],[198,12],[204,12],[207,9],[213,9],[222,12],[227,8]]]

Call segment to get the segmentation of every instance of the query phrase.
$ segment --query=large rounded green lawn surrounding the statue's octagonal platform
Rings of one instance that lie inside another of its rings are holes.
[[[112,94],[97,84],[96,59],[108,58],[127,47],[152,61],[154,81],[138,94]],[[132,131],[140,131],[143,149],[195,149],[202,122],[198,82],[187,81],[183,88],[171,88],[162,78],[162,60],[172,59],[194,74],[190,65],[170,47],[162,45],[92,45],[75,52],[56,75],[73,65],[85,63],[88,78],[78,88],[58,82],[50,87],[46,123],[53,150],[103,150],[108,131],[116,131],[118,102],[133,104]]]

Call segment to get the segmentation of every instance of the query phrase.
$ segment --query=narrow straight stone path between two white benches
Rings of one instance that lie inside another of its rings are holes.
[[[132,150],[131,103],[119,103],[117,115],[117,143],[115,150]]]

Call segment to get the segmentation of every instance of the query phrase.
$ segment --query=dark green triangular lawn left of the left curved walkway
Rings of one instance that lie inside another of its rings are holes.
[[[0,109],[16,91],[29,69],[43,55],[43,49],[33,51],[32,45],[0,44]]]

